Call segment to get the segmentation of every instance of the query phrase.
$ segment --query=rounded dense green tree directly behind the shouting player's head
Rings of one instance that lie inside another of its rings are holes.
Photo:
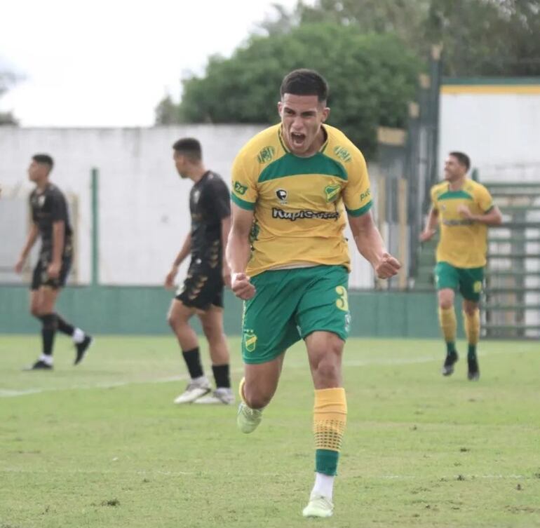
[[[283,76],[317,69],[330,83],[330,124],[366,154],[377,126],[404,126],[416,94],[419,61],[391,35],[361,34],[331,22],[253,36],[230,59],[211,57],[205,76],[184,80],[184,122],[275,123]]]

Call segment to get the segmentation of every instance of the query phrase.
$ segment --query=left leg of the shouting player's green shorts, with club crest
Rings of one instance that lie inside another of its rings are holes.
[[[244,363],[267,363],[299,341],[295,310],[301,292],[295,290],[290,271],[265,271],[252,278],[257,292],[244,303]]]

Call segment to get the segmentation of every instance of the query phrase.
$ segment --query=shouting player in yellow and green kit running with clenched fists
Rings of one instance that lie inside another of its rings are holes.
[[[315,388],[316,479],[305,517],[330,517],[346,423],[342,352],[349,332],[346,216],[377,276],[400,269],[374,225],[360,151],[325,125],[328,84],[312,70],[281,84],[281,123],[252,138],[233,166],[227,245],[232,290],[245,301],[238,427],[251,433],[278,386],[286,349],[306,343]]]

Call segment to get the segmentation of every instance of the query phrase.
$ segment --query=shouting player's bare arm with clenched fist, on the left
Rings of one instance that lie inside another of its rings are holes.
[[[251,255],[250,231],[253,212],[232,204],[232,222],[227,243],[227,262],[231,269],[231,289],[236,297],[247,301],[255,295],[255,286],[245,274]]]

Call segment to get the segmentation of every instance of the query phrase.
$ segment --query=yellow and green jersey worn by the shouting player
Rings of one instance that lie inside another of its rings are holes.
[[[370,209],[370,180],[346,135],[323,128],[327,139],[309,158],[285,147],[281,124],[252,137],[236,156],[231,198],[254,212],[248,275],[316,264],[350,270],[345,211],[360,216]]]

